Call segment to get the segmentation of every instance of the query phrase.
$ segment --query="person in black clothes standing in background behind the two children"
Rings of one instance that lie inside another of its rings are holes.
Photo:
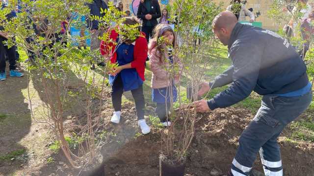
[[[149,38],[153,36],[153,30],[158,24],[157,19],[161,17],[158,0],[141,0],[136,16],[143,21],[141,31],[145,33],[147,42],[149,42]]]

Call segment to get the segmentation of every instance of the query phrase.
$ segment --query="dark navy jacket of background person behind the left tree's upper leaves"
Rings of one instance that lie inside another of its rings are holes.
[[[93,0],[93,3],[88,4],[88,7],[90,9],[90,15],[92,15],[92,16],[95,15],[98,17],[104,17],[105,16],[105,14],[101,14],[101,8],[104,10],[108,8],[108,6],[104,0]],[[98,29],[98,21],[97,20],[91,21],[88,18],[86,18],[86,22],[87,22],[87,27],[90,30]]]

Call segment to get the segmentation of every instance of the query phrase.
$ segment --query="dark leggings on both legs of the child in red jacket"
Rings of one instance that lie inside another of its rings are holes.
[[[123,82],[121,74],[117,76],[112,85],[111,97],[114,111],[121,110],[122,94],[123,94]],[[131,90],[132,96],[135,101],[135,108],[137,113],[137,120],[144,119],[145,112],[145,99],[143,93],[143,85],[137,89]]]

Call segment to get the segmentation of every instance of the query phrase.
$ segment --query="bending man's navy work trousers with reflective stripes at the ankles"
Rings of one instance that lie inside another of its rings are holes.
[[[277,138],[309,107],[312,96],[312,91],[297,97],[264,95],[261,108],[239,138],[239,147],[231,166],[232,174],[249,176],[260,151],[265,176],[283,176]]]

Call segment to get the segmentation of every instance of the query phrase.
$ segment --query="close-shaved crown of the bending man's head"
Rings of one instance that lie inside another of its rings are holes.
[[[221,28],[232,30],[235,27],[237,19],[235,14],[229,11],[220,12],[212,22],[212,28],[214,30],[220,30]]]

